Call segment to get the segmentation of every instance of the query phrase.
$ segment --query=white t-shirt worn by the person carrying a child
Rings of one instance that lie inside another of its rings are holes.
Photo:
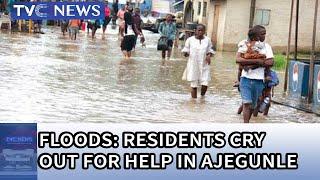
[[[238,52],[245,53],[247,52],[247,40],[243,40],[238,44]],[[259,46],[259,53],[266,55],[267,59],[273,58],[273,51],[271,46],[265,42],[259,42],[257,44]],[[248,71],[242,70],[241,77],[246,77],[248,79],[257,79],[264,80],[264,67],[260,67],[257,69],[250,69]]]

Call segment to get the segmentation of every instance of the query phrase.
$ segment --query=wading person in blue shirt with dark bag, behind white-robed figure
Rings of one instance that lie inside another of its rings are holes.
[[[176,27],[176,24],[173,22],[173,16],[171,14],[168,14],[166,16],[166,21],[162,22],[159,26],[160,36],[166,38],[167,40],[167,49],[162,50],[163,60],[165,60],[166,58],[166,53],[167,53],[168,60],[171,57],[173,41],[176,39],[176,31],[177,31],[177,27]]]

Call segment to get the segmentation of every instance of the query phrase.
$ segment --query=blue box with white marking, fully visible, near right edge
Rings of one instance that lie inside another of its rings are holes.
[[[308,96],[309,64],[290,61],[289,66],[289,94],[300,98]]]

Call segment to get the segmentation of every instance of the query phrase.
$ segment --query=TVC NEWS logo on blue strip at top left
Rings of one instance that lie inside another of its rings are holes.
[[[17,2],[11,8],[14,20],[104,19],[102,2]]]

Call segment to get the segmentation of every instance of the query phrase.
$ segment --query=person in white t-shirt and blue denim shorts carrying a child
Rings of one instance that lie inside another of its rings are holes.
[[[265,88],[266,73],[273,65],[272,48],[264,42],[266,29],[258,25],[250,29],[248,35],[248,40],[243,40],[238,44],[236,56],[236,62],[241,69],[239,87],[245,123],[249,123],[257,107],[259,97]]]

